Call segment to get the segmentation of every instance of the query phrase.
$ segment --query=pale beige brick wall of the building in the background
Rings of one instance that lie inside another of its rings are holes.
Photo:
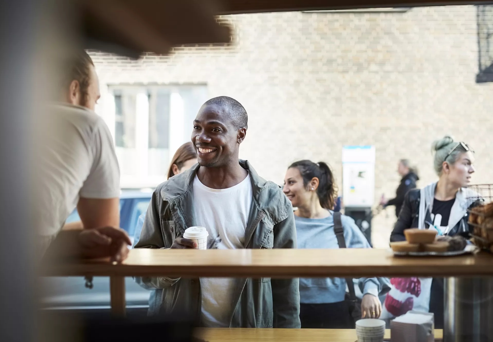
[[[410,158],[436,179],[430,145],[452,134],[476,151],[475,183],[493,182],[493,83],[476,84],[476,9],[387,13],[266,13],[225,17],[234,46],[178,48],[138,61],[92,53],[106,84],[207,84],[210,97],[240,101],[249,116],[241,157],[282,183],[289,163],[326,161],[341,180],[341,149],[376,146],[376,197],[398,185]],[[388,210],[373,221],[385,246]]]

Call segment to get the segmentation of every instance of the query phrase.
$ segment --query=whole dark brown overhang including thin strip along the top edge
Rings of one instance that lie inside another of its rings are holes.
[[[377,2],[378,1],[378,2]],[[230,43],[216,15],[492,3],[464,0],[78,0],[84,47],[133,58],[182,44]]]

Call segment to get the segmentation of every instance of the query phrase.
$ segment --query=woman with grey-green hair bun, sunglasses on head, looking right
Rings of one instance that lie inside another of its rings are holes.
[[[465,142],[454,141],[450,136],[434,141],[432,151],[433,167],[438,181],[406,194],[397,223],[390,235],[391,242],[404,241],[404,231],[409,228],[436,229],[439,235],[461,235],[466,238],[469,236],[467,210],[479,204],[479,195],[468,189],[471,175],[476,171],[473,166],[474,151]],[[431,288],[429,285],[427,288],[423,286],[424,283],[429,284],[429,278],[410,279],[422,283],[421,298],[418,294],[409,295],[406,301],[404,298],[396,300],[392,298],[391,294],[394,292],[391,290],[384,304],[385,310],[393,316],[398,316],[417,307],[426,310],[429,305],[429,312],[435,314],[435,327],[442,328],[443,279],[434,278]],[[394,279],[391,282],[394,284]]]

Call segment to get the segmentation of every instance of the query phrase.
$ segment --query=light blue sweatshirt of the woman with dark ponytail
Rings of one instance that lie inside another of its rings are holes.
[[[334,218],[312,219],[294,216],[298,248],[339,248],[334,233]],[[344,239],[348,248],[371,248],[363,233],[349,217],[341,216]],[[353,284],[350,284],[353,286]],[[358,286],[363,295],[378,296],[382,284],[378,278],[359,278]],[[300,302],[304,304],[337,303],[344,301],[344,278],[300,278]]]

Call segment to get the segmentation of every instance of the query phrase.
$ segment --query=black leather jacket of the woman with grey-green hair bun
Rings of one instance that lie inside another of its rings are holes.
[[[418,228],[418,219],[420,212],[420,200],[421,194],[420,189],[414,189],[409,191],[405,198],[402,209],[399,213],[397,222],[395,223],[394,230],[390,234],[390,242],[393,241],[405,241],[404,230],[408,228]],[[469,205],[469,209],[480,205],[481,201],[476,201]],[[426,221],[432,222],[429,211],[426,212]],[[447,235],[462,235],[464,238],[469,237],[469,225],[467,221],[469,220],[469,212],[465,214],[464,217],[449,231]],[[425,224],[428,228],[428,224]]]

